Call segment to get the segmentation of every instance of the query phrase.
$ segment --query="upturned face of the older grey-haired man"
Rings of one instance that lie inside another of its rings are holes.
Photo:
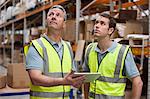
[[[56,30],[63,29],[64,12],[58,8],[51,9],[47,14],[47,25]]]

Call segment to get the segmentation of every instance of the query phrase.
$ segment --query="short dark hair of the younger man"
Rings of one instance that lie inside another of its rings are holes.
[[[100,16],[108,18],[109,19],[109,28],[114,28],[114,30],[115,30],[115,28],[116,28],[116,21],[115,21],[115,19],[112,16],[110,16],[109,14],[104,13],[104,12],[101,13]]]

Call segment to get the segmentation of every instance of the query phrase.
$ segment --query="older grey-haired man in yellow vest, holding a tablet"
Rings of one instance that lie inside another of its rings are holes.
[[[47,14],[47,32],[25,49],[26,69],[32,82],[30,99],[68,99],[71,85],[78,88],[84,80],[84,76],[72,78],[72,49],[61,37],[65,21],[65,9],[52,6]]]

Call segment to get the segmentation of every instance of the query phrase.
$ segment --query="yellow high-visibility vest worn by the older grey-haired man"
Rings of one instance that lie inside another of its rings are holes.
[[[62,78],[68,72],[70,72],[72,66],[72,59],[70,55],[70,49],[68,48],[66,42],[62,41],[63,43],[62,61],[60,61],[58,53],[45,38],[41,37],[40,39],[33,40],[32,43],[44,60],[44,70],[43,70],[44,75]],[[62,71],[61,68],[63,69],[63,72],[61,72]],[[57,97],[60,98],[63,96],[64,97],[69,96],[68,93],[70,92],[70,86],[42,87],[31,84],[31,92],[32,94],[30,98],[32,99],[41,99],[41,98],[43,99],[44,97],[46,98],[49,96],[50,96],[49,98],[51,98],[54,97],[55,94],[58,94]]]

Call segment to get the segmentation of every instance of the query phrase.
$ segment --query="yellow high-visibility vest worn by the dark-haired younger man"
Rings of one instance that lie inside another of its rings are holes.
[[[110,96],[123,96],[126,77],[122,75],[122,70],[129,47],[117,44],[115,50],[107,53],[98,66],[98,55],[95,52],[96,46],[97,43],[90,45],[91,50],[89,50],[88,64],[90,72],[98,71],[100,77],[96,80],[96,89],[95,82],[90,83],[90,92]]]

